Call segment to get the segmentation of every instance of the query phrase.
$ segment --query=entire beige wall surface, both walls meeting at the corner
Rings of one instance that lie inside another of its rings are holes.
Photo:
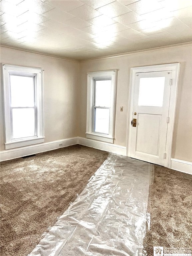
[[[130,68],[180,63],[172,158],[192,161],[192,47],[178,45],[129,55],[72,62],[14,49],[1,49],[1,62],[44,68],[45,142],[86,137],[87,72],[118,69],[114,143],[126,146]],[[80,65],[80,69],[79,69]],[[79,72],[80,71],[80,72]],[[2,95],[2,85],[1,85]],[[1,106],[3,102],[1,100]],[[123,106],[123,112],[120,112]],[[1,107],[0,150],[4,150]]]

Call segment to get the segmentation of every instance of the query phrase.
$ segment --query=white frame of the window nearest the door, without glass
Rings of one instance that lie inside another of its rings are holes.
[[[87,73],[87,128],[86,137],[89,139],[100,140],[114,143],[115,128],[115,106],[116,106],[116,87],[117,70],[98,71]],[[111,80],[111,104],[109,107],[109,134],[94,132],[94,81]]]

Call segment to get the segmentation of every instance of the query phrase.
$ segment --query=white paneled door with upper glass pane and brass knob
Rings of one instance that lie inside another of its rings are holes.
[[[130,157],[164,166],[172,71],[134,75]]]

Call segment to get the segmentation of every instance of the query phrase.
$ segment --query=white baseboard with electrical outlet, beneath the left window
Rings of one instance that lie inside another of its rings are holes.
[[[62,146],[59,146],[59,143],[62,143]],[[47,143],[41,143],[36,145],[30,145],[22,148],[4,150],[0,152],[0,161],[37,154],[37,153],[50,151],[57,148],[63,148],[63,147],[67,147],[75,144],[78,144],[78,137],[57,140],[57,141],[52,141]]]

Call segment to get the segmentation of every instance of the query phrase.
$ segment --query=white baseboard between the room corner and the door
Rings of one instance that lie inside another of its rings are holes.
[[[87,138],[78,137],[78,144],[91,148],[97,148],[100,150],[108,151],[114,154],[126,156],[126,147],[111,144],[108,142],[92,140]]]

